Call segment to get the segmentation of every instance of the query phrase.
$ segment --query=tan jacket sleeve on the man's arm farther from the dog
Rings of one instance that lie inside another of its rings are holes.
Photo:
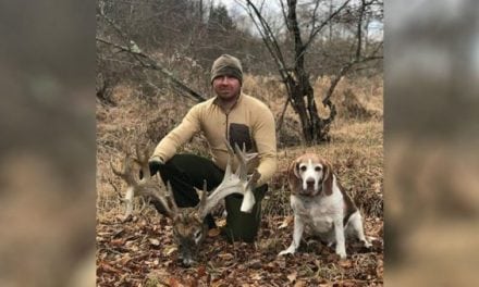
[[[152,157],[160,157],[163,162],[169,161],[180,147],[188,142],[200,129],[200,107],[194,105],[183,117],[180,125],[173,128],[156,147]]]

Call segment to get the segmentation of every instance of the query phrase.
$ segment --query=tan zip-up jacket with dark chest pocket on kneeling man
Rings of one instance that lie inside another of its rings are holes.
[[[277,170],[277,138],[272,112],[263,102],[243,92],[228,114],[217,104],[216,99],[194,105],[182,123],[161,139],[151,157],[160,157],[165,162],[195,134],[202,132],[208,140],[212,161],[222,170],[228,163],[225,138],[232,146],[237,144],[240,147],[245,146],[248,152],[258,152],[257,170],[261,177],[257,186],[267,183]],[[236,166],[237,163],[234,162],[233,169]]]

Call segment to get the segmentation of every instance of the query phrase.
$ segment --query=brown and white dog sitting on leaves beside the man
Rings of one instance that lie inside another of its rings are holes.
[[[294,253],[303,233],[319,236],[335,252],[346,258],[345,237],[354,235],[369,248],[363,219],[353,200],[332,171],[331,164],[315,153],[305,153],[290,164],[288,184],[294,211],[294,234],[291,246],[279,255]]]

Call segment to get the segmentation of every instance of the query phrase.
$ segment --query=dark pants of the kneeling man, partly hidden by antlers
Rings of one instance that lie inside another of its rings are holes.
[[[224,171],[219,169],[211,160],[195,154],[176,154],[165,164],[160,166],[163,183],[169,182],[179,208],[196,207],[199,203],[198,195],[194,187],[201,189],[207,180],[207,190],[211,191],[220,185]],[[256,203],[251,213],[240,211],[243,196],[230,195],[225,198],[226,226],[223,234],[230,241],[253,242],[261,222],[261,200],[268,190],[268,185],[257,187],[253,192]],[[214,227],[211,214],[205,222],[209,227]]]

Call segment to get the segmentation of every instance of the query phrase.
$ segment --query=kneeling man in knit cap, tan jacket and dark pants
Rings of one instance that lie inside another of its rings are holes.
[[[274,117],[268,107],[242,92],[243,68],[240,60],[223,54],[211,67],[211,85],[216,97],[194,105],[182,123],[171,130],[155,149],[149,160],[151,173],[160,172],[164,183],[170,182],[179,207],[194,207],[199,202],[194,187],[208,191],[223,178],[228,162],[226,138],[232,147],[245,146],[248,152],[259,153],[257,171],[260,177],[254,189],[256,204],[251,213],[243,213],[241,195],[225,198],[226,226],[223,234],[231,241],[254,241],[260,225],[261,200],[268,190],[266,184],[277,170]],[[176,150],[202,132],[212,160],[195,154],[175,154]],[[211,215],[206,219],[214,227]]]

